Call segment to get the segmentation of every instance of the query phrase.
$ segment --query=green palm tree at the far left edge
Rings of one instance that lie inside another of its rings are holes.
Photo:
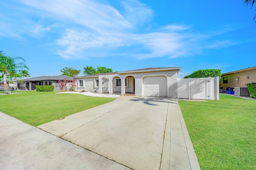
[[[15,72],[20,71],[20,68],[28,69],[26,64],[24,64],[23,62],[25,62],[25,59],[23,59],[22,57],[6,56],[2,51],[0,51],[0,72],[2,73],[5,90],[8,89],[7,76],[12,76],[12,74],[14,74]]]

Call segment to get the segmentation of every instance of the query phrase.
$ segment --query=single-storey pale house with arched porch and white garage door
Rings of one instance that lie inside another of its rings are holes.
[[[181,67],[144,68],[76,77],[76,91],[135,96],[178,97]]]

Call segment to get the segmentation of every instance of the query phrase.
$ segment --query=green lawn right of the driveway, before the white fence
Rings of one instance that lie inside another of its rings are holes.
[[[256,169],[256,101],[179,102],[202,170]]]

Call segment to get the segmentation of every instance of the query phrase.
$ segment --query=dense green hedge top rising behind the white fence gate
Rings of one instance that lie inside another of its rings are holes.
[[[206,70],[197,70],[192,74],[185,76],[184,78],[204,78],[204,77],[217,77],[221,78],[221,70],[220,69],[206,69]]]

